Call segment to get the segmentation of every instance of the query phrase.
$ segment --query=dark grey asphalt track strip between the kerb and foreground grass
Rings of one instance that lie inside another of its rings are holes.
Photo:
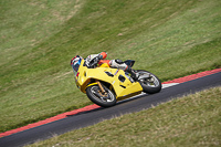
[[[139,95],[137,97],[119,102],[114,107],[98,107],[92,111],[70,115],[65,118],[45,125],[1,137],[0,147],[24,146],[36,140],[51,138],[54,135],[61,135],[73,129],[91,126],[104,119],[110,119],[127,113],[147,109],[172,98],[193,94],[196,92],[215,86],[221,86],[221,72],[164,88],[157,94]]]

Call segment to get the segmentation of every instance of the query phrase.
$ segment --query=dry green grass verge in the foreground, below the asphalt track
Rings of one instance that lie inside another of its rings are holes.
[[[127,114],[29,147],[202,147],[221,144],[221,87]]]

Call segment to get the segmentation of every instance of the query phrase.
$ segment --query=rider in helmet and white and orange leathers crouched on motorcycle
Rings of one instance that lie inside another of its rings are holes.
[[[95,67],[96,64],[103,64],[103,63],[107,63],[110,67],[114,69],[120,69],[125,72],[128,72],[131,74],[131,77],[137,81],[138,75],[136,74],[136,71],[133,70],[130,66],[128,66],[127,64],[125,64],[122,60],[105,60],[107,57],[107,53],[106,52],[102,52],[98,54],[91,54],[85,59],[85,64],[87,67]],[[74,56],[71,60],[71,65],[75,65],[78,63],[80,60],[82,60],[83,57],[80,55]]]

